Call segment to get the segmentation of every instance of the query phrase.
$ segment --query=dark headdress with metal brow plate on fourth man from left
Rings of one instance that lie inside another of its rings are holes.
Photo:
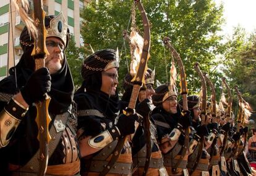
[[[155,89],[155,94],[152,95],[153,104],[158,106],[171,96],[177,96],[177,91],[174,91],[173,88],[170,89],[169,83],[160,85]]]

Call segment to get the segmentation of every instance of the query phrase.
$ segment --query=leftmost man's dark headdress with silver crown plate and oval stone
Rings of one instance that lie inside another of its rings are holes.
[[[49,15],[45,17],[45,28],[47,31],[47,36],[54,36],[59,38],[67,48],[69,43],[69,28],[67,28],[67,22],[64,19],[62,13],[57,15]],[[23,52],[26,52],[28,49],[33,48],[34,40],[32,36],[28,34],[27,27],[23,28],[22,33],[20,33],[20,46],[23,49]]]

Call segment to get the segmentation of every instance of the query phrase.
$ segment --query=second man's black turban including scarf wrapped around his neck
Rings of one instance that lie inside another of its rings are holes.
[[[88,56],[82,65],[83,83],[75,94],[85,94],[90,99],[92,108],[98,109],[108,119],[114,120],[119,114],[119,97],[101,91],[101,72],[119,67],[118,52],[114,49],[102,49]]]

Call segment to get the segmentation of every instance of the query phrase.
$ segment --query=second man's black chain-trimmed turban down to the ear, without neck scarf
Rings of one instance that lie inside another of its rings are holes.
[[[102,49],[88,56],[82,65],[83,85],[87,90],[100,90],[101,72],[119,67],[118,53],[114,49]]]

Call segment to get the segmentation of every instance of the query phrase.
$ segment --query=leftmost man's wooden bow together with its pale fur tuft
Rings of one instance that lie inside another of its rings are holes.
[[[45,41],[46,41],[46,29],[45,29],[45,11],[43,10],[42,0],[33,0],[34,4],[34,20],[28,16],[28,1],[27,0],[13,0],[16,9],[19,11],[20,17],[25,23],[28,33],[33,36],[34,49],[32,56],[35,59],[35,70],[45,67],[46,54],[49,54]],[[49,117],[48,107],[51,98],[45,94],[45,99],[36,104],[36,124],[38,125],[38,140],[40,142],[40,156],[38,156],[40,169],[38,175],[45,175],[48,166],[48,143],[51,140],[49,135],[49,123],[51,118]]]

